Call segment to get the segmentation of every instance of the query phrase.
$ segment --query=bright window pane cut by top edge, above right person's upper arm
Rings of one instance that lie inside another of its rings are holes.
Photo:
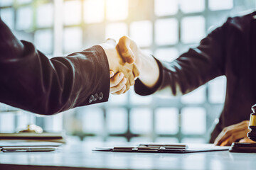
[[[233,8],[233,0],[209,0],[209,8],[212,11]]]

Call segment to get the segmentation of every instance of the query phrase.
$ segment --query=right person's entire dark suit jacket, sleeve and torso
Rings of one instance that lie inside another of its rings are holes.
[[[159,62],[160,78],[154,89],[147,89],[139,79],[135,91],[153,94],[169,88],[175,96],[186,94],[206,82],[225,75],[227,90],[220,121],[210,142],[226,126],[249,120],[251,106],[256,103],[256,12],[228,18],[213,30],[200,45],[188,50],[174,62]]]

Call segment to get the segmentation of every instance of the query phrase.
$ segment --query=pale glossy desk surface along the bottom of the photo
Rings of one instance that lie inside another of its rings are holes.
[[[157,154],[95,152],[105,143],[77,142],[55,152],[0,152],[0,169],[255,169],[256,154],[202,152]],[[110,146],[110,145],[108,145]]]

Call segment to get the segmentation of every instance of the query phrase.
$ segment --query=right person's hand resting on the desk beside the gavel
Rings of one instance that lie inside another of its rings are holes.
[[[248,126],[249,120],[244,120],[241,123],[224,128],[218,137],[216,137],[214,145],[230,146],[236,140],[247,137],[247,132],[250,131]],[[240,142],[243,142],[243,140],[240,140]]]

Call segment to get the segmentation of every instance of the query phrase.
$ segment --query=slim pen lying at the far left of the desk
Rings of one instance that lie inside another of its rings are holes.
[[[56,147],[2,147],[2,152],[50,152]]]

